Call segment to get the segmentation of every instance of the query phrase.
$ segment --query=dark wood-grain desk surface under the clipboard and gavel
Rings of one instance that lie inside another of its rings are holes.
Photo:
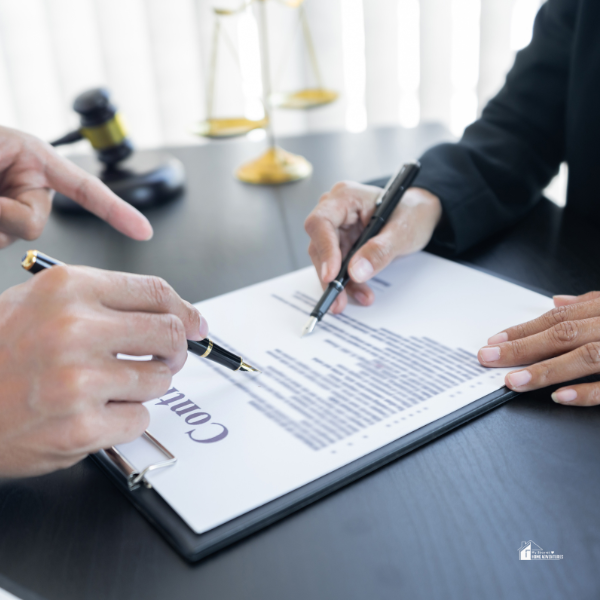
[[[53,217],[33,245],[161,275],[201,300],[309,264],[302,223],[322,191],[389,174],[445,137],[425,126],[288,139],[315,173],[277,189],[231,177],[255,144],[175,150],[189,190],[149,215],[151,242]],[[31,245],[0,252],[0,288],[27,278],[18,263]],[[600,287],[597,229],[546,201],[462,258],[555,292]],[[16,584],[26,600],[595,599],[599,436],[600,409],[526,394],[194,566],[89,461],[0,482],[0,587]],[[529,539],[564,559],[520,562]]]

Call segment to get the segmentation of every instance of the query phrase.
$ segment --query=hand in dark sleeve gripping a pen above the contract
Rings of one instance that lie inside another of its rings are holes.
[[[308,215],[304,228],[310,236],[308,253],[323,288],[333,281],[346,256],[375,210],[381,188],[354,182],[336,183]],[[375,295],[365,283],[398,256],[424,248],[442,215],[437,196],[421,188],[410,188],[379,235],[369,240],[352,258],[351,281],[331,306],[340,313],[350,294],[369,306]]]

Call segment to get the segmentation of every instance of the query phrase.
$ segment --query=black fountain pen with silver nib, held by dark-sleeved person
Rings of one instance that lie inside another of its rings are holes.
[[[357,250],[364,246],[371,238],[375,237],[386,224],[396,206],[400,202],[404,192],[412,185],[421,165],[419,161],[408,162],[402,165],[398,172],[388,181],[385,189],[375,204],[375,212],[369,221],[369,224],[362,232],[360,237],[354,242],[350,252],[344,262],[337,277],[327,286],[321,299],[317,302],[314,310],[310,313],[310,319],[302,330],[302,335],[312,333],[317,323],[325,316],[335,299],[340,295],[346,284],[350,281],[348,275],[348,265],[350,260],[356,254]]]

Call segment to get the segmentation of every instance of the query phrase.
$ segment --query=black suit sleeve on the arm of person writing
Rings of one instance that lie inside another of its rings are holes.
[[[515,223],[565,157],[565,106],[577,0],[549,0],[504,87],[456,144],[422,157],[414,185],[438,196],[434,241],[459,253]]]

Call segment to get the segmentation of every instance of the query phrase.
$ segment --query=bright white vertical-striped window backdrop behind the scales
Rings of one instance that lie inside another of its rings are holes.
[[[77,125],[70,109],[74,96],[106,85],[138,147],[207,143],[191,130],[206,114],[211,9],[241,2],[0,0],[0,123],[44,139],[58,137]],[[316,110],[274,111],[276,131],[361,131],[437,121],[460,135],[501,87],[515,53],[529,43],[540,5],[305,0],[322,78],[341,96]],[[298,11],[270,0],[267,12],[274,91],[314,86]],[[259,118],[253,11],[224,19],[223,31],[215,112]]]

